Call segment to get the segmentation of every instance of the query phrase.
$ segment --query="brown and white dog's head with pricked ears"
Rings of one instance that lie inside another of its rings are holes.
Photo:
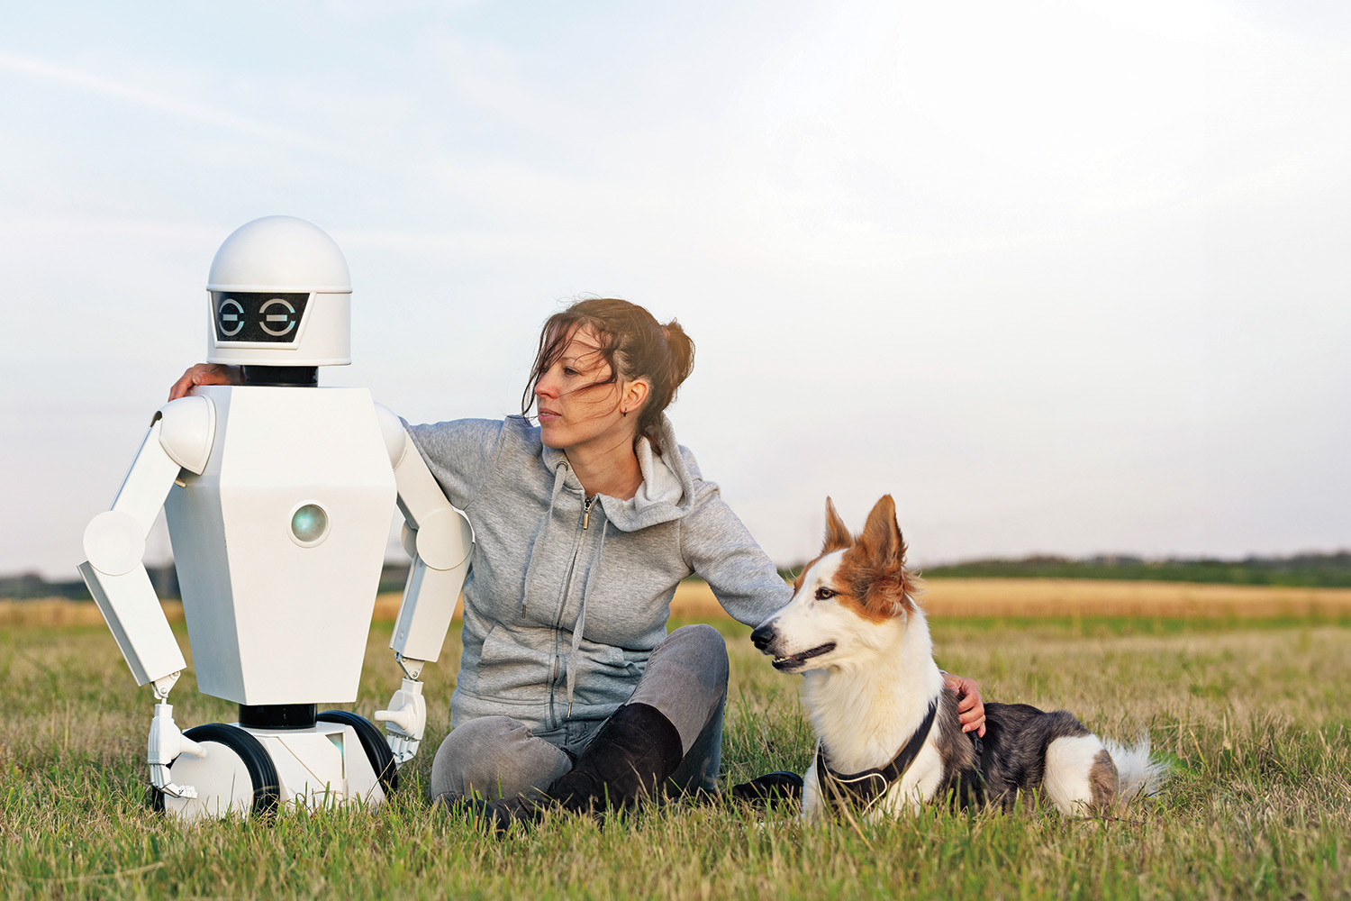
[[[825,498],[820,557],[797,577],[788,607],[761,623],[751,642],[784,673],[866,662],[905,631],[917,592],[892,496],[877,501],[858,535]]]

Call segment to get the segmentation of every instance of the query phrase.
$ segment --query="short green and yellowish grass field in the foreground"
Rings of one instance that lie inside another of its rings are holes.
[[[728,636],[724,777],[805,767],[794,677]],[[380,810],[181,828],[145,805],[151,694],[101,627],[0,635],[0,896],[576,898],[1351,897],[1344,619],[946,620],[940,663],[986,697],[1065,706],[1102,735],[1147,731],[1177,775],[1116,819],[929,809],[854,829],[727,804],[667,802],[603,828],[562,819],[488,839],[432,809],[457,654],[424,674],[427,742]],[[359,713],[397,688],[373,629]],[[186,642],[182,642],[186,644]],[[230,704],[174,689],[184,727]]]

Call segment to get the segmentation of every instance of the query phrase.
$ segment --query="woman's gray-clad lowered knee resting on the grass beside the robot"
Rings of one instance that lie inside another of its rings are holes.
[[[567,755],[509,716],[482,716],[455,727],[431,765],[431,796],[511,797],[543,789],[567,771]]]

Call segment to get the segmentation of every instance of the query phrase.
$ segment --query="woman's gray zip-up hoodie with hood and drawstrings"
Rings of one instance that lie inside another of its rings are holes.
[[[589,512],[567,457],[520,416],[409,434],[474,527],[453,727],[500,715],[542,732],[608,717],[666,636],[676,586],[692,573],[750,625],[792,596],[666,417],[665,454],[638,443],[638,493],[598,494]]]

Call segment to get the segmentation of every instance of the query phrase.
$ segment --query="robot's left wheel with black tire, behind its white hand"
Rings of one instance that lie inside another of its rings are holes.
[[[370,727],[369,723],[366,725]],[[216,774],[232,773],[236,777],[247,775],[247,785],[243,783],[243,779],[230,778],[223,781],[224,785],[231,786],[227,792],[204,794],[204,797],[186,800],[182,804],[190,808],[200,808],[196,812],[197,815],[207,812],[209,816],[220,816],[224,810],[234,809],[251,817],[272,817],[281,801],[281,789],[277,779],[277,767],[273,765],[267,751],[263,750],[262,742],[238,725],[226,725],[224,723],[196,725],[185,731],[184,735],[199,744],[211,746],[208,758],[200,765],[196,758],[186,758],[195,765],[195,769],[205,765]],[[362,743],[365,743],[365,739]],[[207,765],[207,761],[209,761],[209,765]],[[207,782],[207,779],[197,778],[190,773],[185,775],[185,781],[189,783]],[[201,775],[207,775],[207,773]],[[213,782],[222,782],[222,779],[218,778]],[[165,810],[165,794],[151,788],[150,804],[155,810]],[[173,804],[177,805],[180,802],[174,800]],[[181,810],[180,813],[193,817],[186,810]]]

